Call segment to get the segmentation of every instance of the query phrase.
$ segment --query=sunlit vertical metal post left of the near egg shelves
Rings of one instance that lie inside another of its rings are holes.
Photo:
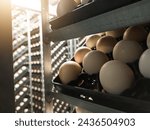
[[[45,97],[52,89],[52,66],[51,66],[51,49],[50,41],[47,39],[47,34],[49,32],[48,23],[48,10],[49,10],[49,0],[41,0],[41,11],[42,11],[42,32],[43,32],[43,70],[44,70],[44,86],[45,86]]]

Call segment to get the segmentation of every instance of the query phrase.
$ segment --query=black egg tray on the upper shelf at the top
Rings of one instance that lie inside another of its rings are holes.
[[[65,14],[59,18],[50,21],[51,29],[56,30],[73,23],[109,12],[111,10],[138,2],[140,0],[95,0],[88,4],[81,5],[74,9],[72,12]]]

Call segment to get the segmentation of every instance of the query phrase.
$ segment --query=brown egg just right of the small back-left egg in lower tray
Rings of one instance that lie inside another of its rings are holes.
[[[110,53],[113,51],[114,46],[116,45],[117,40],[111,36],[103,36],[96,43],[96,50],[99,50],[103,53]]]

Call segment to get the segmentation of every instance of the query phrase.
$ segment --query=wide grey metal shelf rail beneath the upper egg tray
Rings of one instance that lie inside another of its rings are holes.
[[[62,41],[85,35],[150,22],[150,1],[139,2],[105,11],[100,15],[72,23],[47,34],[49,41]]]

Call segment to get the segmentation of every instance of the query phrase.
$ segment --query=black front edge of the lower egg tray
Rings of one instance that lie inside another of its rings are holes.
[[[150,84],[149,79],[144,78],[141,80],[143,80],[143,82],[147,81],[148,85]],[[125,91],[125,93],[121,95],[112,95],[108,93],[102,93],[98,91],[81,88],[78,86],[63,85],[60,82],[59,76],[57,76],[52,81],[52,83],[54,84],[54,86],[57,88],[57,90],[60,93],[71,96],[71,97],[75,97],[77,99],[82,99],[84,101],[95,103],[101,106],[114,108],[122,112],[129,112],[129,113],[133,113],[133,112],[149,113],[150,112],[150,96],[148,97],[149,98],[148,100],[136,99],[134,98],[134,96],[128,97],[127,95],[128,93],[130,93],[130,90]],[[141,91],[139,88],[134,88],[134,89],[138,89],[139,92]],[[150,87],[148,91],[150,92]]]

